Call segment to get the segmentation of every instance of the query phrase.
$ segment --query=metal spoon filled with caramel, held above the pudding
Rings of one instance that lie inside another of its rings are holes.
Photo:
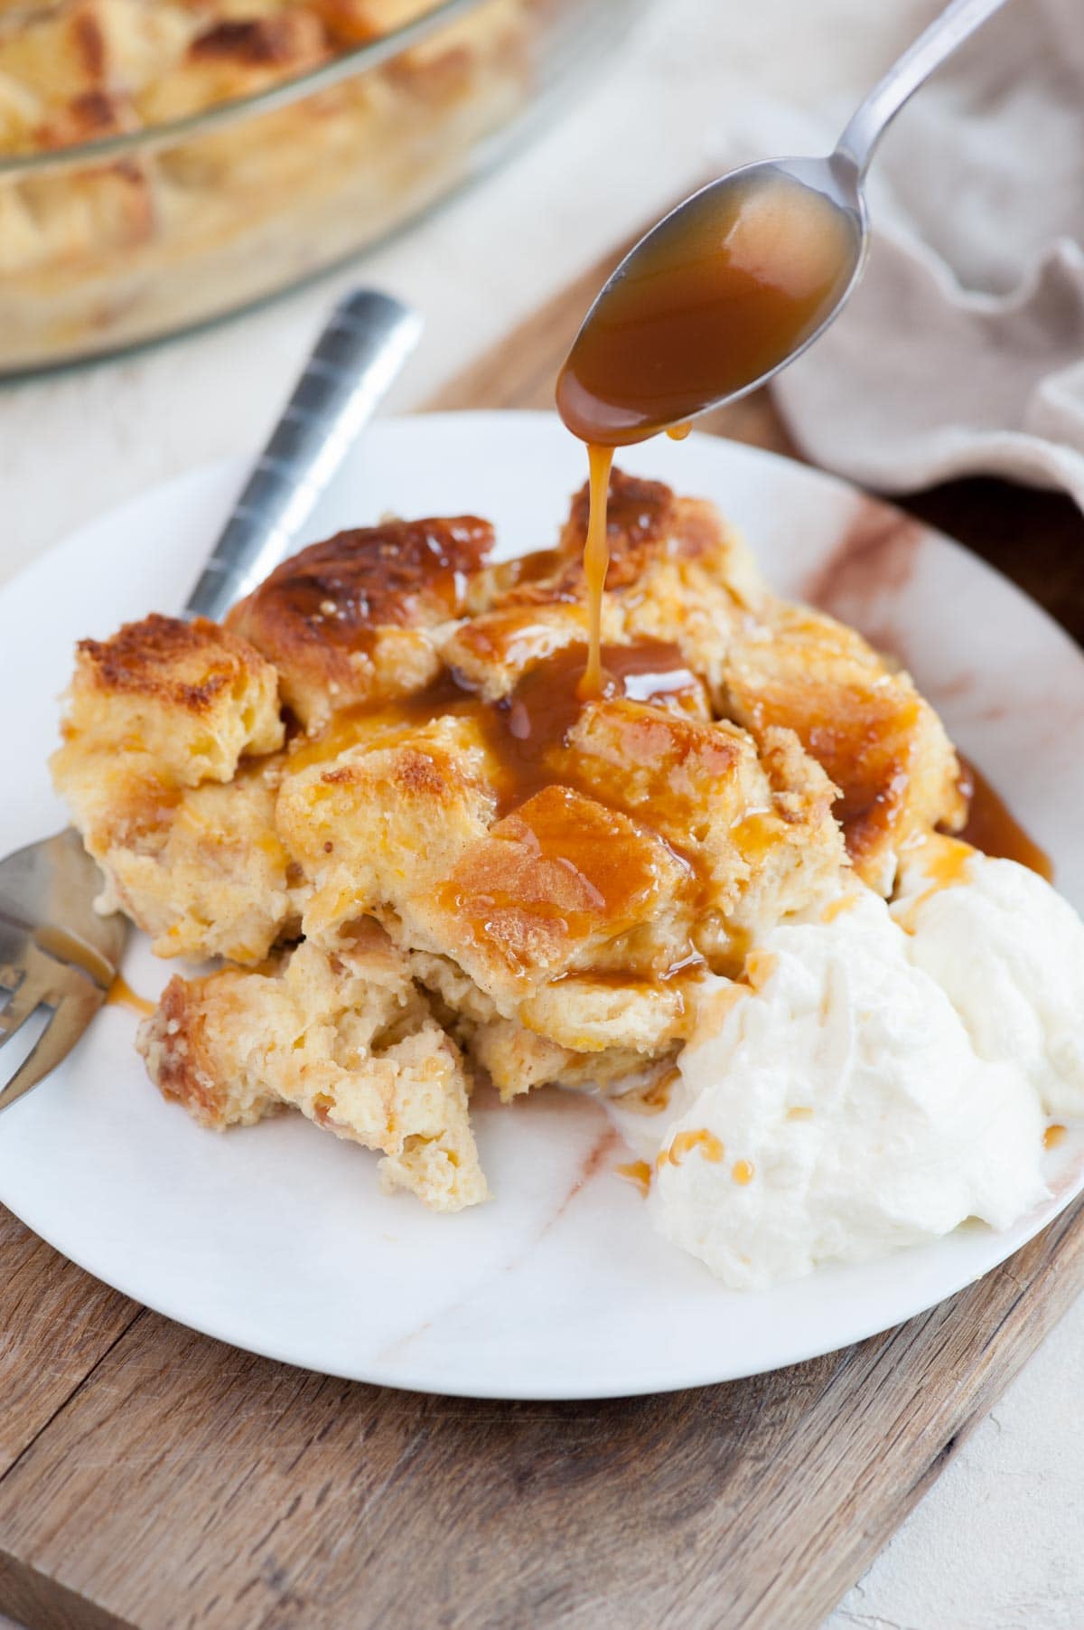
[[[933,70],[1004,3],[952,0],[866,96],[827,158],[732,170],[641,238],[588,311],[562,372],[557,404],[568,427],[586,442],[638,442],[757,390],[812,346],[863,274],[863,181],[877,142]],[[802,262],[811,244],[815,274]]]

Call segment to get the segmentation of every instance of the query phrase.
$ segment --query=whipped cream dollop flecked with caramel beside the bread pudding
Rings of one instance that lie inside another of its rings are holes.
[[[1084,1112],[1084,924],[1040,877],[938,839],[887,906],[848,895],[706,980],[658,1113],[610,1100],[656,1227],[767,1288],[1047,1198],[1048,1115]],[[962,851],[962,852],[955,852]]]

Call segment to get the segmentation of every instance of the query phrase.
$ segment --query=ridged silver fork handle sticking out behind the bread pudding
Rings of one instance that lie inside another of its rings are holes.
[[[285,556],[420,334],[418,313],[391,295],[360,289],[339,302],[189,595],[187,618],[218,619]]]

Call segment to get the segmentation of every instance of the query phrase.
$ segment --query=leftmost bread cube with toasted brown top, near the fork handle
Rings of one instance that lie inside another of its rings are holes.
[[[283,743],[277,675],[252,645],[207,618],[151,615],[112,639],[80,641],[62,734],[59,784],[88,753],[117,766],[146,755],[161,781],[181,787],[229,781],[243,755]]]

